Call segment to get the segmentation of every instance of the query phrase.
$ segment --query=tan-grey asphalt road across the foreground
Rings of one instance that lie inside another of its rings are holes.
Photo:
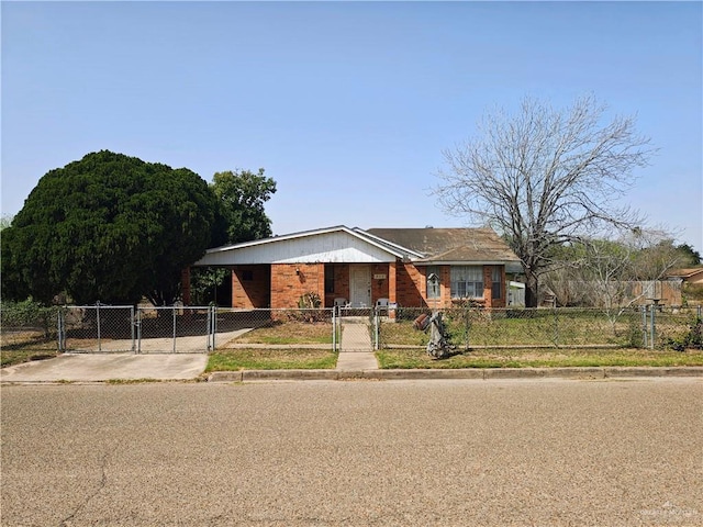
[[[703,525],[703,381],[11,385],[3,526]]]

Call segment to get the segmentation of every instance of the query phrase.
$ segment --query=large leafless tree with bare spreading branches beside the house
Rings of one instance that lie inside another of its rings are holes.
[[[603,124],[605,112],[593,97],[563,110],[525,98],[518,114],[488,114],[476,138],[444,152],[439,203],[506,236],[523,262],[528,306],[537,305],[550,248],[605,225],[641,222],[617,200],[655,149],[635,132],[633,117]]]

